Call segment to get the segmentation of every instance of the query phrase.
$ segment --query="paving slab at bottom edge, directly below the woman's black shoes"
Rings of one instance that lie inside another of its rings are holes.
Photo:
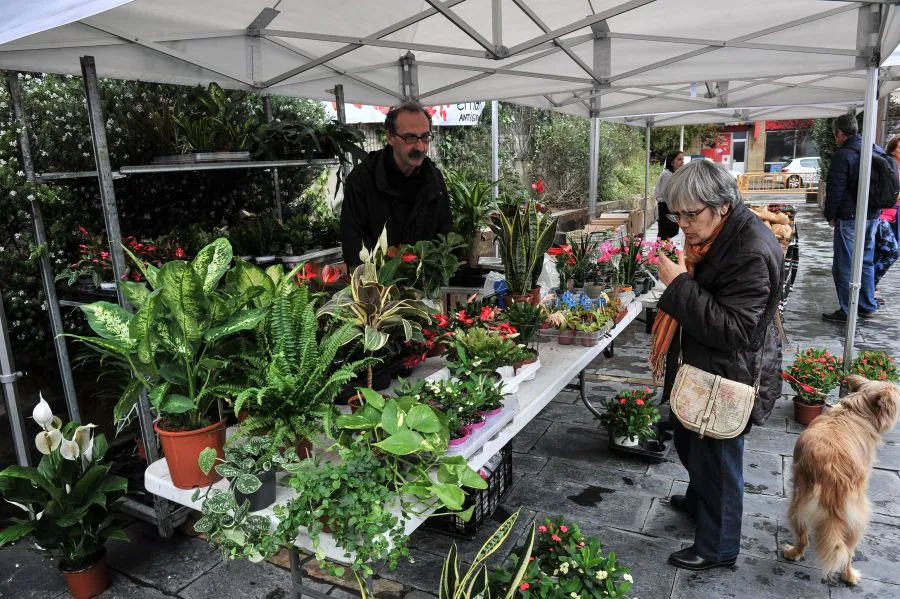
[[[672,599],[822,599],[829,587],[819,570],[753,556],[738,556],[731,568],[678,570]]]

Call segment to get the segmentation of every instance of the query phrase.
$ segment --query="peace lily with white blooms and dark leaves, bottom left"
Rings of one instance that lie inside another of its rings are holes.
[[[0,547],[30,537],[62,569],[88,567],[107,539],[128,540],[111,512],[128,481],[109,473],[106,438],[92,433],[96,425],[63,426],[43,397],[32,417],[42,429],[35,445],[43,457],[36,467],[8,466],[0,472],[0,496],[27,513],[0,531]]]

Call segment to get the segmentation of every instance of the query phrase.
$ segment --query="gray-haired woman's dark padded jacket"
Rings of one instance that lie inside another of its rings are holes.
[[[743,204],[734,208],[693,277],[678,276],[659,308],[682,325],[686,364],[753,385],[751,422],[762,424],[781,397],[781,337],[774,316],[784,254],[772,232]],[[768,334],[766,334],[768,330]],[[678,372],[679,336],[666,358],[664,400]]]

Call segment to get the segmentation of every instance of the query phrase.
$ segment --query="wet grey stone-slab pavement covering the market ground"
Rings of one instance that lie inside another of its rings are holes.
[[[843,327],[820,319],[820,313],[834,310],[837,301],[830,273],[831,229],[814,206],[800,207],[798,223],[800,272],[785,311],[786,363],[798,348],[826,347],[840,353],[844,337]],[[860,324],[858,347],[898,356],[898,290],[900,267],[882,282],[888,305],[877,319]],[[617,340],[612,359],[592,364],[591,397],[596,400],[637,384],[623,379],[646,379],[647,344],[644,325],[636,322]],[[787,385],[784,390],[790,394]],[[802,430],[794,423],[792,410],[787,399],[779,402],[768,422],[747,437],[742,550],[732,568],[693,573],[666,563],[669,553],[690,545],[693,537],[691,522],[667,499],[684,492],[687,472],[674,450],[667,461],[656,465],[611,455],[605,432],[571,392],[556,397],[513,441],[515,484],[478,539],[457,541],[461,558],[471,559],[496,525],[522,508],[525,521],[520,520],[512,537],[521,537],[535,517],[565,514],[632,568],[634,594],[641,599],[900,597],[900,430],[888,436],[878,453],[869,491],[872,524],[855,557],[863,581],[853,589],[834,579],[826,581],[811,555],[793,564],[778,551],[791,540],[786,526],[791,455]],[[104,599],[290,597],[290,576],[277,565],[223,564],[203,541],[184,535],[161,540],[142,523],[133,524],[129,532],[131,543],[110,548],[114,582]],[[415,563],[381,572],[376,594],[407,599],[433,595],[450,543],[433,532],[416,532],[410,542]],[[318,588],[339,599],[349,596],[332,582]],[[0,551],[0,598],[55,599],[67,596],[64,591],[62,577],[52,565],[20,547]]]

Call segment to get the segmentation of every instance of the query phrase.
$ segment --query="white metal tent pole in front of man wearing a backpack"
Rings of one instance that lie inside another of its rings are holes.
[[[878,67],[866,71],[866,103],[863,106],[863,142],[859,156],[859,189],[856,194],[856,232],[853,239],[853,266],[850,271],[850,305],[847,307],[847,336],[844,339],[844,369],[853,360],[859,289],[862,283],[863,251],[866,243],[866,212],[869,208],[869,175],[872,172],[872,144],[878,111]]]

